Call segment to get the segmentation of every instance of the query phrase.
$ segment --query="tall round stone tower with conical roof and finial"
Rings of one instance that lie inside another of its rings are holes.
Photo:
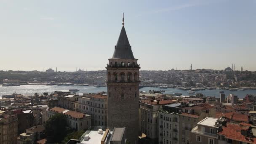
[[[123,19],[124,21],[124,19]],[[121,29],[115,51],[107,64],[107,125],[126,127],[125,135],[131,144],[139,136],[139,69],[131,50],[125,27]]]

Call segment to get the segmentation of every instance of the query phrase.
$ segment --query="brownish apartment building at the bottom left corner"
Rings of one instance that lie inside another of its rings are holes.
[[[17,115],[8,115],[0,111],[0,144],[16,144],[17,132]]]

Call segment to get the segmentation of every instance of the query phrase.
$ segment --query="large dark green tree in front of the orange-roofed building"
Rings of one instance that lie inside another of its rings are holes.
[[[47,141],[50,143],[60,143],[70,129],[67,128],[67,119],[63,114],[53,115],[45,124]]]

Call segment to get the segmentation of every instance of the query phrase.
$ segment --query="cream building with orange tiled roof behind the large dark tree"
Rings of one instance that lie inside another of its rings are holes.
[[[46,111],[46,119],[48,120],[56,113],[66,115],[68,125],[76,130],[88,129],[91,126],[91,115],[86,115],[80,112],[75,112],[61,107],[54,107]]]

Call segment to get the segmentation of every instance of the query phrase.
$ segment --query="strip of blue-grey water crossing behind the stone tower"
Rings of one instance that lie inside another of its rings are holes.
[[[3,87],[0,85],[0,97],[2,95],[8,95],[12,93],[23,94],[25,96],[32,96],[34,93],[43,94],[44,92],[53,93],[54,91],[67,91],[69,89],[78,89],[80,90],[78,93],[98,93],[102,91],[107,91],[107,87],[94,87],[94,86],[80,86],[80,85],[20,85],[20,86],[11,86],[11,87]],[[160,89],[156,87],[144,87],[140,88],[139,91],[149,90],[165,90],[166,94],[172,93],[182,93],[184,96],[188,96],[188,91],[184,91],[178,88],[167,88]],[[219,97],[219,91],[224,91],[227,95],[234,94],[239,98],[243,98],[246,94],[256,95],[256,90],[245,90],[245,91],[229,91],[229,90],[203,90],[203,91],[195,91],[196,93],[203,93],[205,96],[216,96]]]

